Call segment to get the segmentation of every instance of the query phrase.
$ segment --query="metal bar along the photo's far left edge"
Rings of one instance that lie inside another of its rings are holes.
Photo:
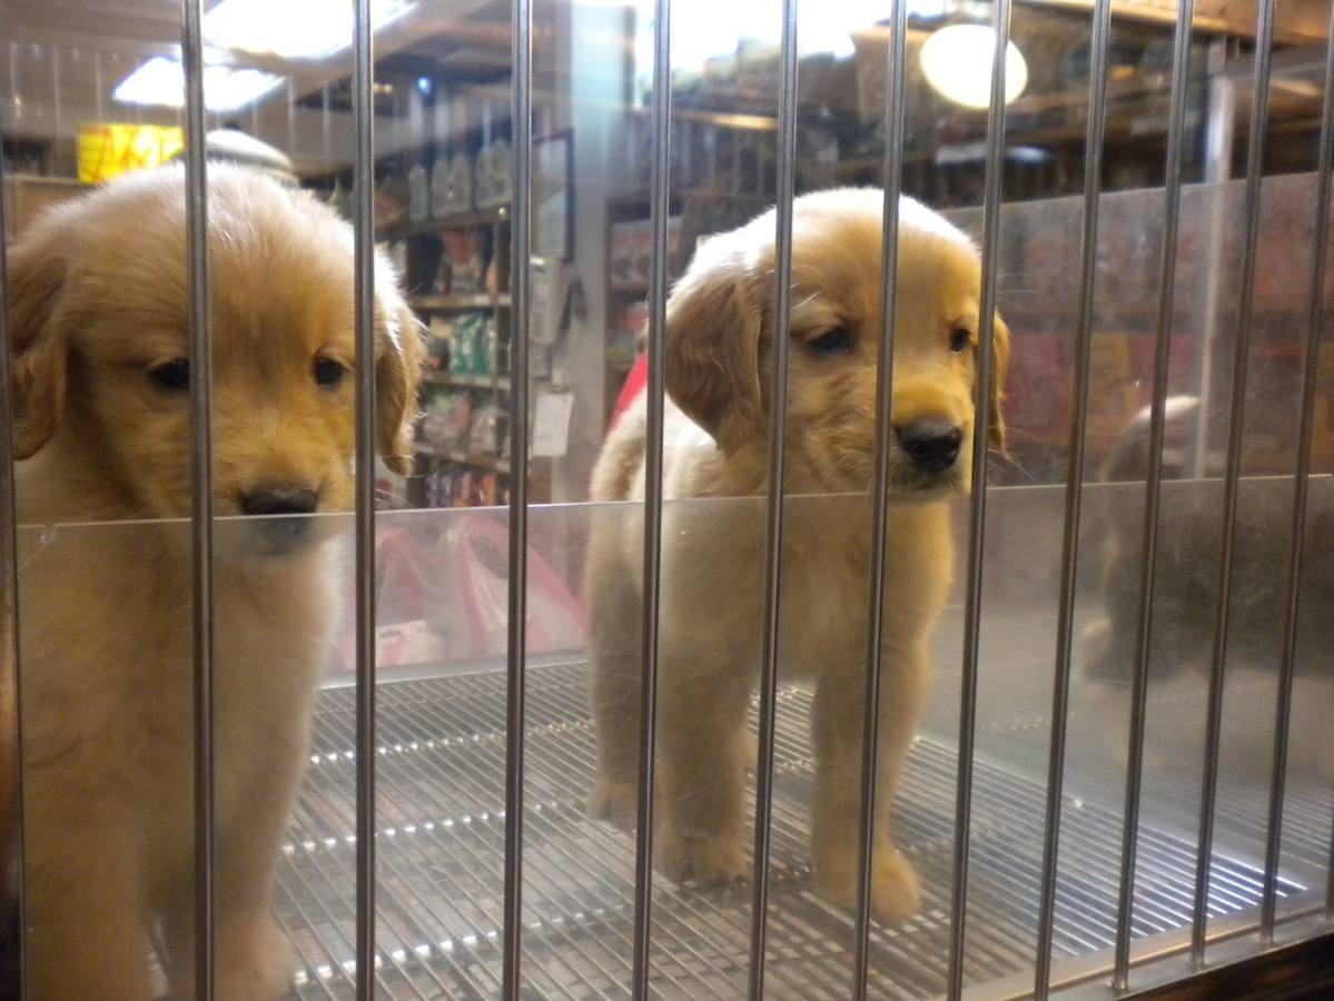
[[[17,998],[23,997],[23,734],[4,173],[0,153],[0,997]]]

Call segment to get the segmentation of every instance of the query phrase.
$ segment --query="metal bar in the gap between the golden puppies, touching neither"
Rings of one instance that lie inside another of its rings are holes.
[[[502,996],[519,997],[523,942],[523,725],[528,609],[528,280],[532,209],[532,0],[514,0],[514,211],[510,331],[510,616],[506,686]],[[484,107],[484,120],[490,111]]]

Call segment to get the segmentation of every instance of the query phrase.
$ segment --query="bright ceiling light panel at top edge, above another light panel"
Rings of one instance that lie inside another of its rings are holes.
[[[416,7],[371,0],[378,31]],[[352,44],[352,4],[331,0],[223,0],[204,15],[204,40],[219,48],[281,59],[328,59]]]

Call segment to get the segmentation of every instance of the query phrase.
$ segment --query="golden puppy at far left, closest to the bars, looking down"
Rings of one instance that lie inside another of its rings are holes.
[[[133,176],[9,255],[20,520],[28,974],[40,1001],[151,997],[149,933],[193,997],[189,393],[184,173]],[[351,228],[212,167],[213,509],[352,502]],[[416,324],[379,263],[378,444],[408,461]],[[136,525],[68,522],[151,520]],[[220,998],[284,994],[269,910],[340,577],[313,518],[216,528]]]

